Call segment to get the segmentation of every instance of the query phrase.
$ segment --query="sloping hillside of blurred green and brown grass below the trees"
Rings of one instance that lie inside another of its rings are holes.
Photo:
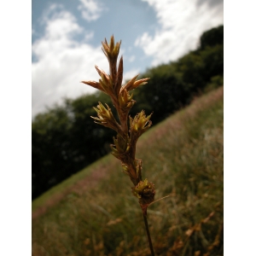
[[[148,224],[156,255],[223,255],[223,87],[140,138],[155,184]],[[32,255],[150,255],[137,198],[108,155],[33,201]]]

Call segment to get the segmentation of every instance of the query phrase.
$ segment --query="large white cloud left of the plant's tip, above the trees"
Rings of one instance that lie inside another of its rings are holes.
[[[47,15],[44,36],[32,44],[32,55],[37,60],[32,62],[33,116],[43,111],[45,105],[60,103],[65,96],[94,92],[95,89],[79,82],[99,79],[95,64],[108,71],[101,45],[93,47],[86,41],[79,44],[73,39],[80,33],[90,39],[93,33],[84,31],[73,15],[56,6]]]

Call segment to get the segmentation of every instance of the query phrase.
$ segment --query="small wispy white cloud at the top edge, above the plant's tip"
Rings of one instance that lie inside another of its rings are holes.
[[[80,0],[79,10],[82,12],[84,20],[91,21],[100,18],[103,7],[101,3],[95,0]]]

